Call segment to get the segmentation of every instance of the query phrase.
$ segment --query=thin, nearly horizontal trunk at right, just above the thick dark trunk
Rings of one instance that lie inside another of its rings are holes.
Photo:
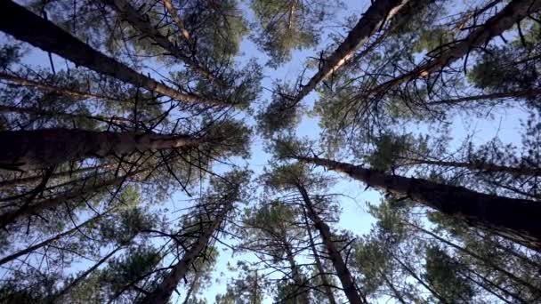
[[[439,165],[442,167],[455,167],[455,168],[465,168],[465,169],[470,169],[470,170],[478,170],[480,172],[503,172],[503,173],[512,174],[514,176],[541,175],[541,169],[539,168],[531,168],[526,165],[521,165],[519,167],[509,167],[509,166],[500,165],[500,164],[486,163],[482,160],[475,160],[475,159],[468,163],[432,161],[432,160],[427,160],[427,159],[416,159],[416,158],[408,158],[408,157],[405,157],[404,159],[412,162],[413,164],[434,164],[434,165]]]

